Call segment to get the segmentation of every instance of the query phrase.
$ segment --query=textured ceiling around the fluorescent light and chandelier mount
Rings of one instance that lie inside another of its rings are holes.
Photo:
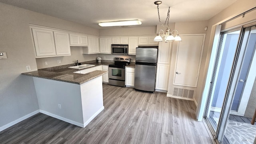
[[[209,20],[236,0],[162,0],[159,5],[162,23],[170,6],[169,22]],[[77,22],[92,28],[99,22],[140,20],[140,26],[159,24],[154,0],[0,0],[34,12]],[[134,26],[132,26],[134,27]],[[111,27],[110,27],[111,28]]]

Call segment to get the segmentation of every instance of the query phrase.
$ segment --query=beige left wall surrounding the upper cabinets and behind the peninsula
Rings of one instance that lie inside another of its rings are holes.
[[[0,128],[38,110],[33,79],[21,75],[22,72],[27,72],[28,65],[31,71],[37,70],[29,24],[99,35],[94,28],[0,3],[0,52],[6,52],[8,57],[0,60]],[[74,52],[78,51],[72,50]],[[88,59],[94,57],[97,56]],[[64,64],[72,63],[76,56],[59,58],[62,58]],[[87,56],[79,55],[78,58],[82,61]],[[56,61],[55,58],[44,60],[48,61],[49,66]],[[39,63],[41,61],[38,60]]]

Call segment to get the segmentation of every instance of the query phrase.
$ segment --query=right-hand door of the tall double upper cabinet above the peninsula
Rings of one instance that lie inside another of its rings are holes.
[[[54,32],[56,55],[71,55],[68,33]]]

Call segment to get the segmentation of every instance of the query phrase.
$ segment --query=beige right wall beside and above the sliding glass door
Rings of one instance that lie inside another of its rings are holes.
[[[204,52],[203,52],[202,63],[201,63],[201,68],[200,68],[200,75],[199,75],[199,79],[198,79],[198,89],[197,89],[196,98],[195,98],[196,102],[198,102],[199,105],[201,105],[201,104],[204,105],[204,103],[205,103],[205,101],[203,103],[201,103],[201,100],[202,100],[202,94],[204,91],[210,55],[211,55],[211,51],[212,51],[212,44],[210,43],[212,41],[212,40],[210,40],[212,26],[214,26],[216,24],[221,24],[222,22],[225,22],[226,20],[229,20],[230,18],[233,18],[233,17],[235,17],[243,12],[246,12],[247,10],[250,10],[254,7],[256,7],[255,0],[237,0],[231,6],[224,9],[222,12],[218,13],[216,16],[212,17],[208,21],[208,30],[206,33]],[[231,28],[238,24],[244,24],[246,22],[249,22],[249,21],[255,20],[255,19],[256,19],[256,15],[250,14],[250,17],[248,15],[246,18],[240,18],[239,20],[237,19],[236,21],[229,22],[230,25],[226,26],[226,28],[228,28],[228,27]],[[198,106],[197,108],[198,108],[197,109],[197,112],[198,112],[200,106]]]

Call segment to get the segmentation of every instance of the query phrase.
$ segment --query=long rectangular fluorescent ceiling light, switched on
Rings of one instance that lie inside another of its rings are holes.
[[[132,25],[140,25],[140,20],[121,20],[121,21],[113,21],[113,22],[100,22],[100,26],[132,26]]]

